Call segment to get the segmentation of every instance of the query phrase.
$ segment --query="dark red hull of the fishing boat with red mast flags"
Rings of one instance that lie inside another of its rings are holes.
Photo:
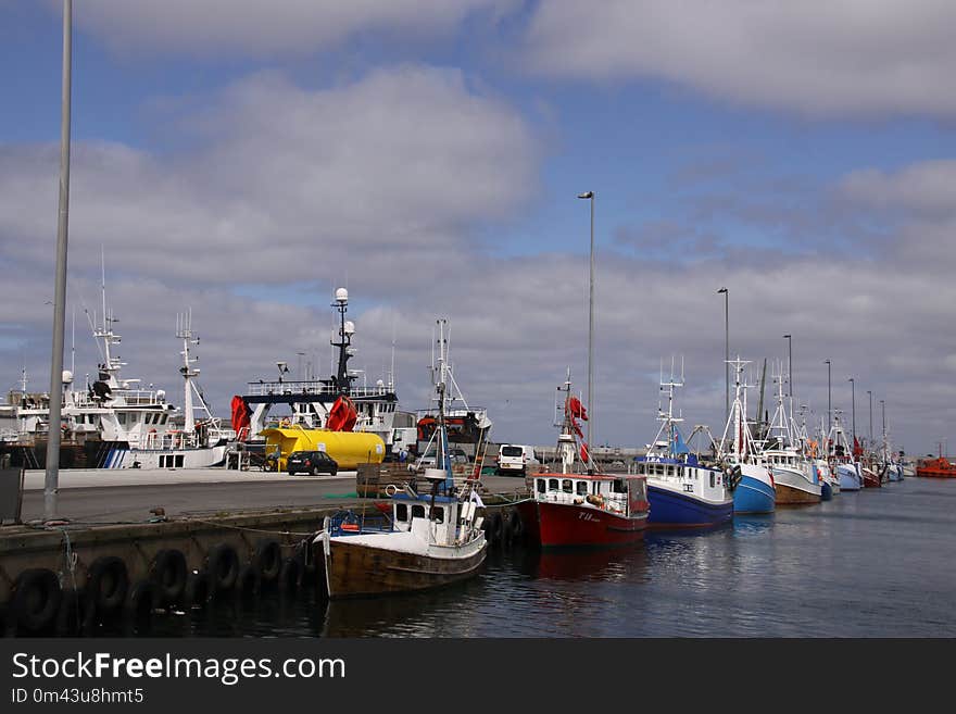
[[[624,546],[641,540],[647,512],[636,516],[569,503],[521,501],[517,504],[531,542],[542,548]]]

